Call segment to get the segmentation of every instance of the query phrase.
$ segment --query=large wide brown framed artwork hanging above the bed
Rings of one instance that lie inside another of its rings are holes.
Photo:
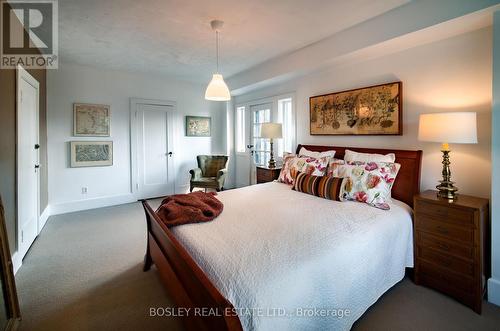
[[[309,98],[311,135],[402,135],[402,82]]]

